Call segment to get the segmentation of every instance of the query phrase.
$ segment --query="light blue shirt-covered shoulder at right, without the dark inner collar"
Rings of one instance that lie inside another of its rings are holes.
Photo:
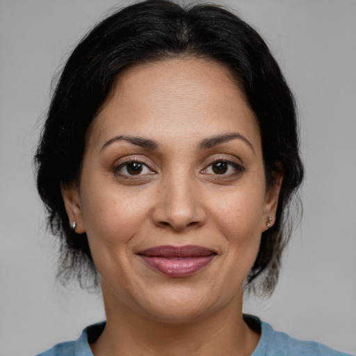
[[[301,341],[261,322],[261,339],[252,356],[351,356],[315,341]]]

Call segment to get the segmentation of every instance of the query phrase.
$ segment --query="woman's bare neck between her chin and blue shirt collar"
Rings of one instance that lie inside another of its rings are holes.
[[[242,300],[195,321],[167,323],[106,305],[106,327],[90,347],[95,356],[251,355],[259,334],[243,321]]]

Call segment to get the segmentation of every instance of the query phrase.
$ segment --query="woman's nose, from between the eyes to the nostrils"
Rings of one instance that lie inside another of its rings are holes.
[[[167,177],[154,206],[154,225],[182,232],[200,227],[207,220],[202,192],[191,177]]]

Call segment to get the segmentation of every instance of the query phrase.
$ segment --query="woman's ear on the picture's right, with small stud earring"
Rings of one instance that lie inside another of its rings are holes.
[[[275,223],[275,212],[277,211],[278,197],[282,186],[283,172],[273,174],[273,184],[267,188],[264,200],[264,213],[262,216],[262,232],[272,227]],[[270,227],[267,226],[268,218],[271,218]]]

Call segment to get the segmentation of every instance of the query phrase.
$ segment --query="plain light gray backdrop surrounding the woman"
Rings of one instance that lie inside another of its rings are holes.
[[[298,98],[304,217],[269,300],[245,312],[356,353],[356,2],[217,1],[253,24]],[[0,0],[0,355],[33,355],[104,318],[99,295],[55,282],[31,160],[51,77],[114,0]]]

